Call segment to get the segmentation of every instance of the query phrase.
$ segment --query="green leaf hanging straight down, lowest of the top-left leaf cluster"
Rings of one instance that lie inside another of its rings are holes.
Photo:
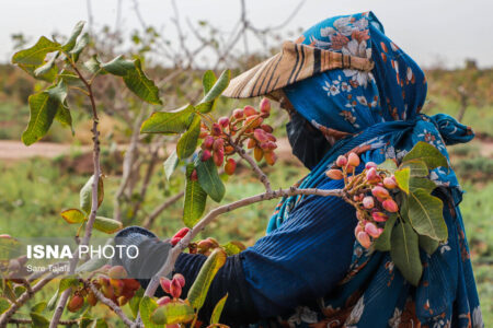
[[[33,94],[28,97],[30,122],[22,133],[22,142],[31,145],[45,137],[58,112],[58,101],[50,98],[47,92]]]

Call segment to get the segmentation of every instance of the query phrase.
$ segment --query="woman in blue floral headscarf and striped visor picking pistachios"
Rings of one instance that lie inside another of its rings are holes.
[[[303,188],[341,188],[342,181],[324,172],[352,150],[365,162],[381,163],[401,159],[417,141],[447,155],[445,144],[473,138],[449,116],[420,115],[424,73],[371,12],[317,24],[297,43],[286,43],[282,54],[232,80],[225,95],[267,95],[290,112],[293,152],[311,169]],[[207,321],[229,293],[221,323],[233,327],[482,327],[458,208],[460,187],[454,171],[436,168],[431,177],[440,186],[435,192],[444,200],[449,238],[432,256],[422,253],[419,286],[403,279],[389,253],[355,241],[355,211],[343,200],[291,197],[278,204],[266,236],[228,258],[200,318]],[[137,259],[121,263],[142,278],[144,286],[171,247],[140,227],[122,231],[117,241],[140,248]],[[182,254],[175,272],[190,286],[204,261],[202,255]]]

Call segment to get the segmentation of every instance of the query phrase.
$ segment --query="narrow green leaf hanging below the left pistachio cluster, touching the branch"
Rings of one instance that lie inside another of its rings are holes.
[[[198,222],[204,213],[207,194],[202,189],[197,180],[190,178],[192,172],[195,169],[193,163],[186,166],[186,186],[185,186],[185,202],[183,206],[183,222],[186,226],[192,227]]]

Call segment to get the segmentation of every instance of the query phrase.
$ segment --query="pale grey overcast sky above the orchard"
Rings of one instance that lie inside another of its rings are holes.
[[[30,37],[68,34],[80,20],[88,20],[88,0],[0,0],[0,61],[13,54],[11,35]],[[94,26],[116,21],[116,3],[125,33],[139,28],[134,0],[91,0]],[[245,0],[250,20],[259,27],[280,24],[300,0]],[[148,25],[170,31],[173,15],[170,0],[138,0]],[[177,0],[181,20],[214,22],[222,32],[233,28],[240,12],[239,0]],[[386,34],[423,67],[456,68],[466,59],[480,67],[493,67],[493,12],[491,0],[306,0],[284,31],[308,28],[326,17],[371,10]],[[158,28],[158,30],[159,30]],[[170,33],[174,37],[175,32]],[[280,44],[279,44],[280,47]]]

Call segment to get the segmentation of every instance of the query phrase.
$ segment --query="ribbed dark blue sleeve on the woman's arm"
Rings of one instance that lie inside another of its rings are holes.
[[[320,189],[342,188],[326,180]],[[241,253],[262,317],[285,314],[326,295],[351,265],[355,210],[337,197],[309,196],[277,230]]]

